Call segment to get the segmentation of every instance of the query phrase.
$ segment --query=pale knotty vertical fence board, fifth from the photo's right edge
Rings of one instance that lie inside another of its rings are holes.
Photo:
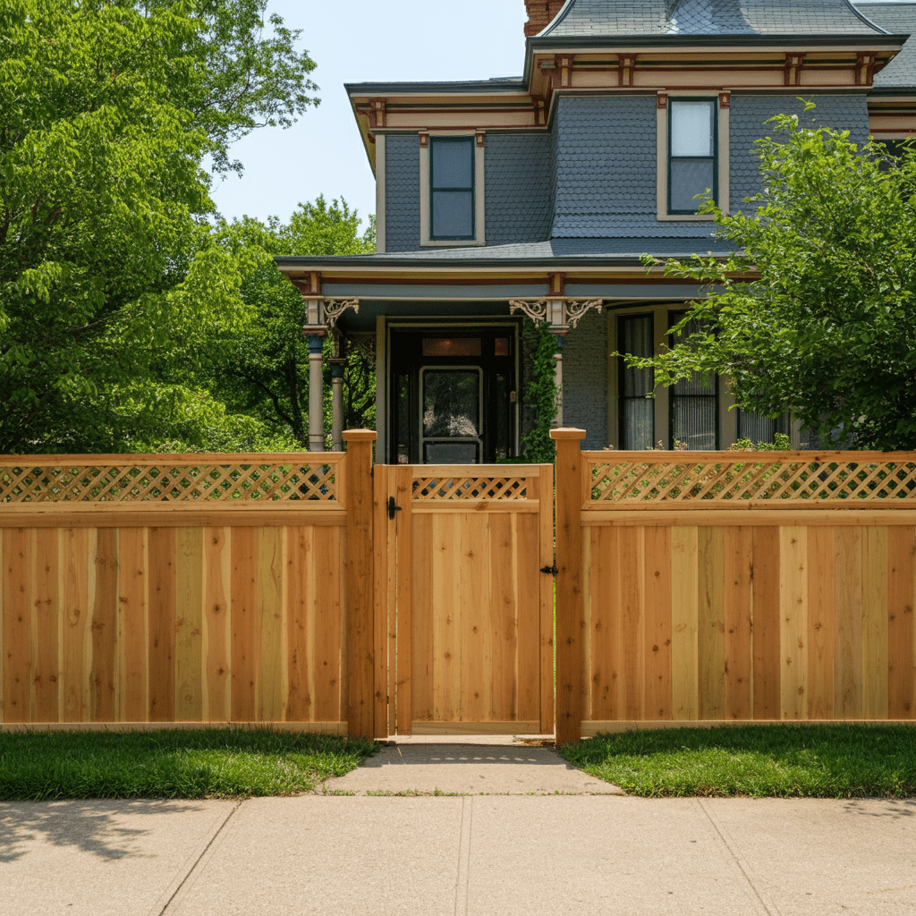
[[[780,706],[783,719],[808,717],[808,531],[780,528]]]

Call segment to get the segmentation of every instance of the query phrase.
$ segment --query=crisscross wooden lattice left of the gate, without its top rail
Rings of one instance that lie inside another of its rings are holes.
[[[334,464],[5,465],[0,503],[336,498]]]

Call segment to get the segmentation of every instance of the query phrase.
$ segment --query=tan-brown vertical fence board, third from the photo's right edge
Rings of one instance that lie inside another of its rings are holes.
[[[862,530],[834,535],[834,714],[862,717]]]

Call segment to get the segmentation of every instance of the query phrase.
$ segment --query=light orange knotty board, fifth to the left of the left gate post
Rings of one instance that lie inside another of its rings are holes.
[[[203,530],[203,702],[207,722],[232,715],[232,540],[229,528]]]

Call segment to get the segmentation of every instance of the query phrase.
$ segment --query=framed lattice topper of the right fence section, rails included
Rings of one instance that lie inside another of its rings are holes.
[[[916,507],[916,456],[588,452],[584,508]]]

